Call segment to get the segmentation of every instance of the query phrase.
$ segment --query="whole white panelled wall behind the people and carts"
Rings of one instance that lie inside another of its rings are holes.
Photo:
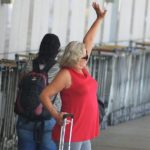
[[[106,0],[96,1],[101,5],[106,2]],[[96,18],[91,5],[93,0],[82,0],[82,2],[81,0],[14,0],[12,2],[12,12],[9,9],[11,4],[0,5],[2,57],[7,57],[4,53],[14,55],[17,52],[37,51],[42,37],[47,32],[57,34],[62,47],[72,40],[82,41]],[[107,14],[98,30],[95,44],[142,40],[144,36],[145,39],[150,39],[149,0],[108,0],[108,2]],[[121,2],[120,11],[118,11],[119,2]],[[146,2],[148,8],[145,24]]]

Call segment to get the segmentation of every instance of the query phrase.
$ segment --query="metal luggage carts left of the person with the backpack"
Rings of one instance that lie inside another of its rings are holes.
[[[26,57],[27,56],[27,57]],[[19,57],[26,59],[19,60]],[[0,60],[0,149],[16,150],[14,104],[20,75],[29,70],[32,55],[16,55],[16,60]]]

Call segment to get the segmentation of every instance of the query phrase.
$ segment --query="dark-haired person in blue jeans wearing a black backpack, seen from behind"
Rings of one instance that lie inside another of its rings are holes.
[[[60,41],[55,34],[46,34],[40,44],[37,58],[33,60],[32,71],[25,74],[19,82],[15,112],[18,150],[56,150],[51,131],[55,119],[42,106],[39,94],[59,71],[56,56]],[[53,97],[57,111],[61,102],[59,95]]]

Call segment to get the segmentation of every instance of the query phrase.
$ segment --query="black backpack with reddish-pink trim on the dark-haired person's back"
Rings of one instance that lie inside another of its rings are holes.
[[[54,65],[51,64],[49,68]],[[26,73],[19,83],[17,98],[15,102],[15,113],[30,120],[42,121],[51,118],[50,113],[41,104],[39,95],[48,85],[48,67],[42,71],[31,71]],[[55,101],[56,96],[53,99]]]

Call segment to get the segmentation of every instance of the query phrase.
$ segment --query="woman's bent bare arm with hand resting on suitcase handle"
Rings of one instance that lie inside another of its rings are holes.
[[[62,117],[64,113],[59,113],[57,111],[55,106],[52,104],[51,97],[68,86],[69,78],[70,76],[67,70],[60,70],[54,80],[40,94],[40,100],[42,104],[59,124],[62,123]]]

